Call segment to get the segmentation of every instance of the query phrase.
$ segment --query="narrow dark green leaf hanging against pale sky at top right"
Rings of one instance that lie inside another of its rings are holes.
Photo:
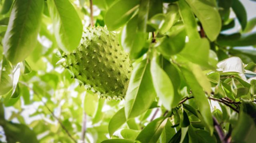
[[[244,30],[247,24],[247,14],[243,4],[239,0],[232,0],[232,9],[242,26],[242,30]]]

